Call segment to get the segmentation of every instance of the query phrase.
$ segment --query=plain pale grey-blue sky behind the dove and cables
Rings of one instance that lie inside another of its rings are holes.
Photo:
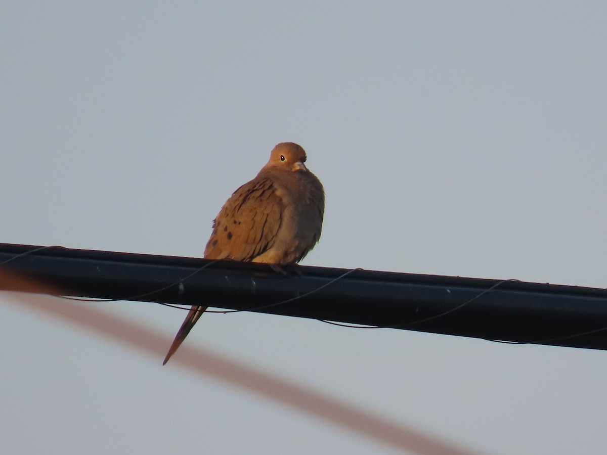
[[[294,141],[326,192],[304,265],[607,287],[605,2],[2,10],[2,243],[202,257]],[[8,300],[2,453],[399,453]],[[607,447],[602,351],[254,313],[186,343],[481,453]]]

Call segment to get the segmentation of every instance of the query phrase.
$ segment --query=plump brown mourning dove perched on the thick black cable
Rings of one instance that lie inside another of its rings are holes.
[[[223,204],[213,221],[205,258],[291,266],[320,238],[325,193],[305,166],[306,154],[292,142],[278,144],[257,177]],[[163,365],[177,351],[207,306],[192,306]]]

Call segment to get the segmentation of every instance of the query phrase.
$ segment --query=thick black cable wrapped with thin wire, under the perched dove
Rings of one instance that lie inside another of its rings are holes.
[[[310,266],[280,274],[263,264],[17,244],[0,244],[0,266],[81,297],[607,349],[607,289]]]

